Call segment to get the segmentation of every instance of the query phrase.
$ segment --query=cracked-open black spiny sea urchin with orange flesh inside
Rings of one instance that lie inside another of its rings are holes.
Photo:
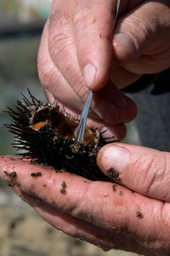
[[[84,141],[77,142],[78,119],[56,104],[42,104],[28,90],[30,99],[23,96],[16,110],[8,108],[12,118],[8,131],[14,133],[14,148],[22,150],[20,155],[33,162],[52,166],[61,172],[72,172],[91,180],[105,180],[96,165],[99,148],[107,142],[99,131],[86,127]]]

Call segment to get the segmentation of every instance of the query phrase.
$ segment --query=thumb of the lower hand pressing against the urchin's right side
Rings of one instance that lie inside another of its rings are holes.
[[[122,143],[111,143],[99,150],[99,168],[111,177],[118,172],[123,186],[143,195],[170,201],[170,153]]]

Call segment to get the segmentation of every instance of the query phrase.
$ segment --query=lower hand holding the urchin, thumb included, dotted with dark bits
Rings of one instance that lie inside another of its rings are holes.
[[[13,156],[0,158],[0,175],[42,218],[66,234],[104,250],[166,256],[170,249],[169,159],[166,152],[112,143],[100,149],[98,165],[105,173],[111,167],[119,172],[120,184],[56,173]],[[15,177],[7,176],[13,172]],[[41,174],[32,177],[32,172]]]

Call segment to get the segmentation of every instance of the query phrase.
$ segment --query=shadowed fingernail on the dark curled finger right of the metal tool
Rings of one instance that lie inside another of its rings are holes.
[[[116,124],[119,121],[119,111],[114,102],[100,102],[97,112],[99,117],[109,124]]]

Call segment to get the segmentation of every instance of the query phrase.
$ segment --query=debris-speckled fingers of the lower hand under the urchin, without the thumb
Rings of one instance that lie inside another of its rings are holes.
[[[10,156],[1,157],[0,169],[1,177],[13,184],[14,191],[57,229],[104,250],[168,255],[168,202],[119,184],[91,182]],[[4,171],[16,172],[16,177],[8,177]],[[32,172],[41,175],[32,177]]]

